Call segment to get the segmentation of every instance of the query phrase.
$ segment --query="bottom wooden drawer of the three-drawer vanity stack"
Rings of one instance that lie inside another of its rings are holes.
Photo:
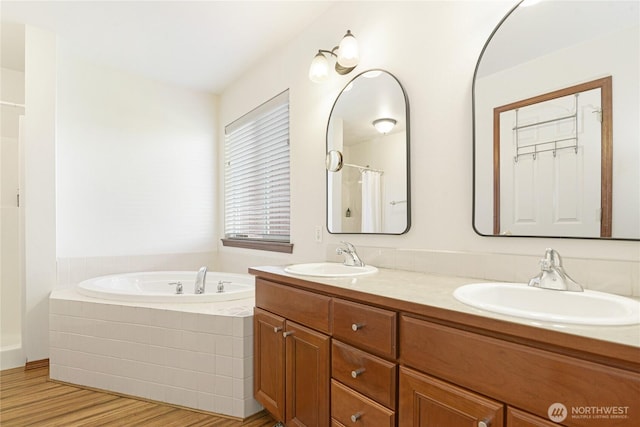
[[[331,380],[331,417],[349,426],[393,427],[396,423],[394,411],[336,380]]]

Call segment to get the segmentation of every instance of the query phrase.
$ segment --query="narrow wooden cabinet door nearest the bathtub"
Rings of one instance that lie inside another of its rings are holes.
[[[256,308],[253,316],[253,391],[278,421],[284,420],[284,319]]]

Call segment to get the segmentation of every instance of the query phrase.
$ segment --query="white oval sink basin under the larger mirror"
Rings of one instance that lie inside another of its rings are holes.
[[[482,310],[543,322],[580,325],[640,323],[640,302],[604,292],[554,291],[524,283],[473,283],[453,296]]]

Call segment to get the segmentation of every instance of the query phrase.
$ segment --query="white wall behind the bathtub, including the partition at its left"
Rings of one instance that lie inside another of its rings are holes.
[[[39,360],[57,284],[213,264],[217,100],[89,63],[29,27],[25,68],[23,336]]]

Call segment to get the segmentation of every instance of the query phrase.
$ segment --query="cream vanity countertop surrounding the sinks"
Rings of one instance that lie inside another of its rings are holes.
[[[307,282],[330,285],[336,288],[378,295],[399,301],[437,307],[445,310],[498,319],[502,321],[553,330],[586,338],[609,341],[640,348],[640,325],[590,326],[540,322],[480,310],[461,303],[453,297],[453,291],[462,285],[487,282],[465,277],[440,276],[404,270],[380,268],[375,274],[350,278],[301,276],[284,271],[284,267],[255,267],[254,270],[292,277]],[[635,298],[634,298],[635,299]]]

